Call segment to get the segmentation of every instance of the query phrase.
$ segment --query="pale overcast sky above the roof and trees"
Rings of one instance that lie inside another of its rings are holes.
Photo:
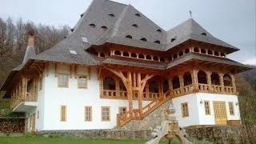
[[[73,27],[92,0],[1,0],[1,18],[22,18],[53,26]],[[240,51],[235,61],[256,65],[255,0],[114,0],[134,6],[164,30],[193,18],[210,34]]]

